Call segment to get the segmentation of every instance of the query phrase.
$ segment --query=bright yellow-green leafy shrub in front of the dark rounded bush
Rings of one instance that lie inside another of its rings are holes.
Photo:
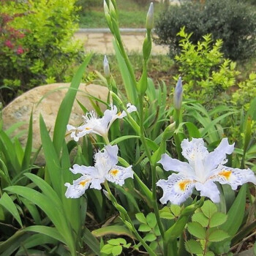
[[[208,34],[193,44],[190,41],[192,34],[187,34],[184,28],[178,36],[181,37],[181,53],[175,59],[179,75],[184,80],[184,97],[197,99],[207,108],[229,99],[226,91],[236,84],[239,72],[235,62],[223,58],[222,40],[213,44],[211,34]]]

